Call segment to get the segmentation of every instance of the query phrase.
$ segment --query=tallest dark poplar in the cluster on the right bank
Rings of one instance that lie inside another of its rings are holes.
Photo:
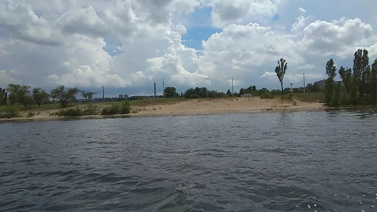
[[[356,88],[359,91],[359,96],[364,96],[364,85],[366,77],[365,71],[369,64],[368,51],[366,49],[358,49],[354,54],[354,66],[353,66],[353,77]]]

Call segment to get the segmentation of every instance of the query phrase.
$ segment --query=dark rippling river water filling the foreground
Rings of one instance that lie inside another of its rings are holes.
[[[377,211],[375,112],[0,123],[0,211]]]

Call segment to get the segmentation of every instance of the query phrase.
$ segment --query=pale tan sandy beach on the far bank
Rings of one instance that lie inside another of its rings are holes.
[[[106,104],[98,104],[100,108]],[[128,116],[155,116],[155,115],[193,115],[193,114],[219,114],[227,112],[248,112],[248,111],[270,111],[270,110],[287,110],[287,109],[324,109],[323,103],[308,103],[299,100],[293,102],[282,101],[280,98],[260,99],[259,97],[251,98],[219,98],[219,99],[194,99],[182,101],[174,104],[159,104],[153,106],[132,106],[133,113]],[[52,120],[57,118],[67,118],[51,116],[51,112],[57,109],[45,109],[39,111],[35,116],[27,118],[27,112],[22,112],[18,118],[0,119],[5,120]],[[113,115],[123,116],[123,115]],[[103,115],[82,116],[82,118],[103,117]],[[109,115],[106,115],[109,117]]]

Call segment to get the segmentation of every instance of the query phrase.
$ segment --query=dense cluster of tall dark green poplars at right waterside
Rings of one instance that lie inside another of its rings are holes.
[[[337,68],[334,60],[327,61],[325,103],[339,105],[377,104],[377,59],[369,65],[368,50],[358,49],[354,54],[353,67],[340,66],[338,73],[343,84],[334,83]]]

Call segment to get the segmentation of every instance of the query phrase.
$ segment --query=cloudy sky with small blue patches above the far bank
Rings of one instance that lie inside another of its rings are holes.
[[[375,0],[0,0],[0,87],[63,84],[106,96],[279,89],[377,58]],[[339,80],[337,75],[336,80]],[[99,97],[99,96],[98,96]]]

